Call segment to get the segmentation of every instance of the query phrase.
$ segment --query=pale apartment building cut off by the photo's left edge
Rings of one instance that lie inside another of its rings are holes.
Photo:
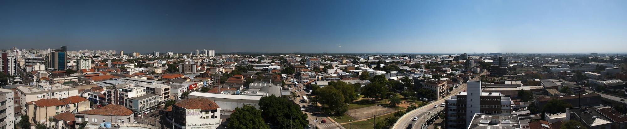
[[[0,128],[13,129],[15,125],[13,90],[0,89]]]

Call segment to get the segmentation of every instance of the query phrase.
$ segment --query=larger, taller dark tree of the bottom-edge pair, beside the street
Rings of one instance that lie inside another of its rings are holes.
[[[292,101],[275,95],[261,97],[259,100],[261,117],[277,128],[304,128],[309,123],[307,114]]]

